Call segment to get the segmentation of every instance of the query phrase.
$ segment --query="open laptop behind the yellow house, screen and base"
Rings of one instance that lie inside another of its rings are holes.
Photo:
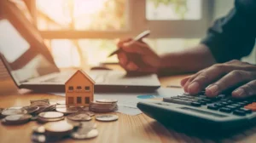
[[[64,92],[64,83],[78,69],[61,72],[43,37],[14,3],[0,5],[0,57],[20,89]],[[1,8],[2,9],[2,8]],[[141,92],[160,88],[157,75],[128,77],[120,71],[84,71],[96,82],[96,92]]]

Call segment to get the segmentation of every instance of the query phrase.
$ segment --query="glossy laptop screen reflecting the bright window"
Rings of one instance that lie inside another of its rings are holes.
[[[0,53],[17,84],[49,74],[56,68],[38,49],[32,49],[7,19],[0,20]]]

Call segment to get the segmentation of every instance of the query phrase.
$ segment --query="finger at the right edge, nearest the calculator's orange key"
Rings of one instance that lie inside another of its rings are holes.
[[[247,98],[256,94],[256,80],[253,80],[232,92],[235,98]]]

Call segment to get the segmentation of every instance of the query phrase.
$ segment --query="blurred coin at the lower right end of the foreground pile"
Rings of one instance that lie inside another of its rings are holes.
[[[77,140],[84,140],[84,139],[95,138],[98,134],[99,132],[97,129],[91,129],[90,131],[84,131],[83,129],[79,129],[78,131],[73,132],[71,134],[71,137]]]

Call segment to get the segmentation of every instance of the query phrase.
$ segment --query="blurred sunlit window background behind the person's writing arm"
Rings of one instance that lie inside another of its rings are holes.
[[[158,54],[188,49],[234,5],[234,0],[11,1],[38,28],[60,68],[117,63],[117,57],[108,54],[118,39],[147,29],[152,34],[145,41]],[[255,53],[243,60],[255,63]],[[3,78],[5,70],[0,69]]]

